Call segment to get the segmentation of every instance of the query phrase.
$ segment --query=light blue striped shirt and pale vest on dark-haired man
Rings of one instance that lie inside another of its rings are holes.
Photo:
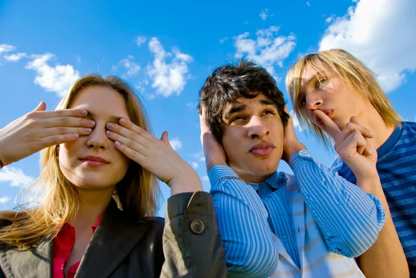
[[[229,277],[363,277],[351,258],[376,240],[383,206],[306,150],[290,164],[295,177],[261,184],[227,166],[209,171]]]

